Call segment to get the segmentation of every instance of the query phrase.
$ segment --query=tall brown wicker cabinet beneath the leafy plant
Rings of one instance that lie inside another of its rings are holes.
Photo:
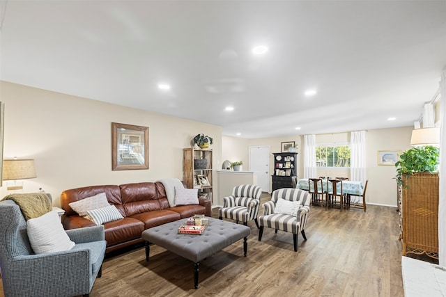
[[[438,259],[438,174],[403,175],[403,182],[403,255]]]

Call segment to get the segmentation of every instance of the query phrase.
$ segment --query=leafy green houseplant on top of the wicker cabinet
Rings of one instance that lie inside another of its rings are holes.
[[[399,156],[399,161],[395,163],[397,167],[398,184],[403,184],[403,175],[409,177],[417,172],[434,173],[438,170],[438,147],[426,145],[413,147]],[[404,184],[404,186],[407,186]]]

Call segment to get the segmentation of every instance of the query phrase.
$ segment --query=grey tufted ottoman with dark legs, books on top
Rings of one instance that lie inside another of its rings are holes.
[[[146,261],[148,261],[151,243],[189,259],[195,263],[194,287],[197,289],[199,262],[202,259],[206,259],[240,239],[244,239],[243,251],[246,257],[249,227],[215,218],[208,219],[209,225],[201,235],[178,234],[178,228],[183,225],[185,218],[142,232],[141,237],[146,241]]]

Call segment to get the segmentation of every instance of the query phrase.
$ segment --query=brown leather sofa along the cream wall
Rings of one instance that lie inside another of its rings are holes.
[[[72,188],[61,194],[61,207],[65,210],[63,227],[66,230],[95,225],[91,220],[78,216],[69,203],[99,193],[105,193],[108,202],[114,204],[124,217],[104,224],[107,240],[105,252],[143,242],[141,233],[150,227],[194,214],[211,215],[211,203],[206,199],[199,199],[199,204],[170,207],[166,191],[160,182],[87,186]]]

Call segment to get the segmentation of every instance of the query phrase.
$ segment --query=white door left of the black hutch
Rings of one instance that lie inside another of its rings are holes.
[[[270,147],[249,147],[249,171],[257,174],[257,184],[262,192],[270,192]]]

